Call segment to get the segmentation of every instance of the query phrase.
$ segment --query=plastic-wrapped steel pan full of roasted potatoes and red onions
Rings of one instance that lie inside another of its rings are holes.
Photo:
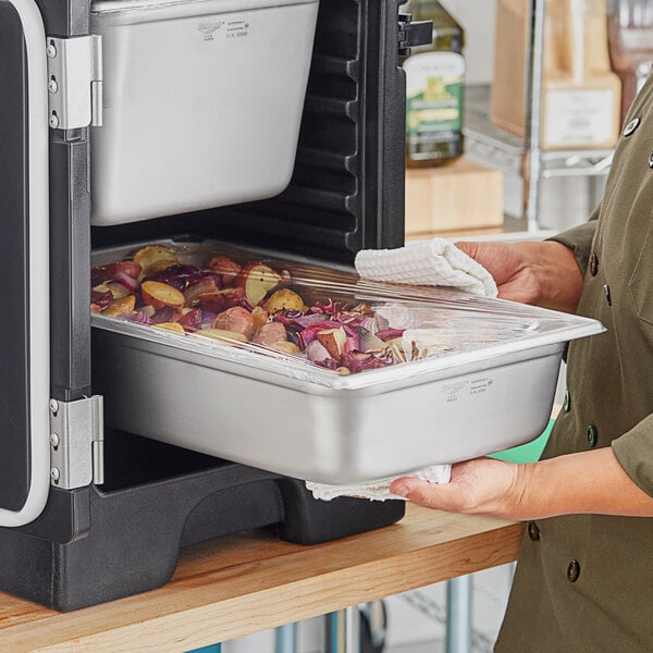
[[[322,483],[523,444],[595,320],[215,242],[94,255],[107,426]]]

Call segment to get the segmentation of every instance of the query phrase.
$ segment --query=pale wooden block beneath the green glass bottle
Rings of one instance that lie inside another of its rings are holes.
[[[406,235],[500,226],[504,175],[465,158],[406,173]]]

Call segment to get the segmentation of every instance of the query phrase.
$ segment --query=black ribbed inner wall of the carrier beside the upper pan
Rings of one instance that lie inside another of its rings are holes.
[[[326,260],[404,238],[403,0],[322,0],[297,161],[272,200],[94,229],[94,245],[195,233]]]

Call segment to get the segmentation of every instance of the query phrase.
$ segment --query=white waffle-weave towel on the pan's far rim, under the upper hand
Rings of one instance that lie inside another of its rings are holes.
[[[356,256],[356,270],[372,281],[449,286],[483,297],[497,295],[490,272],[446,238],[416,241],[397,249],[364,249]]]

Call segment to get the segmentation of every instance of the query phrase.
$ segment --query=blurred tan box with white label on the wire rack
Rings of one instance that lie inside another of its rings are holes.
[[[490,120],[526,136],[528,0],[497,0]],[[620,126],[621,84],[611,72],[605,0],[549,0],[544,34],[541,145],[545,150],[604,149]]]

